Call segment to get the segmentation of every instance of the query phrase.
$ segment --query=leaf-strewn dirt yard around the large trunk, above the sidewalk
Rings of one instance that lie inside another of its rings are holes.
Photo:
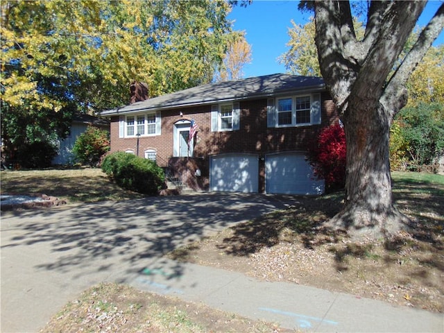
[[[403,196],[400,208],[409,214],[411,199]],[[411,232],[393,239],[357,242],[322,228],[322,221],[339,211],[339,198],[298,198],[289,210],[236,225],[169,257],[261,280],[443,312],[444,207],[436,205],[435,199],[441,198],[427,194],[429,205],[416,205],[420,219]]]

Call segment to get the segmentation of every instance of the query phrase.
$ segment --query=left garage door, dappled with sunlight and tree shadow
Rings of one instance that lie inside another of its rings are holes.
[[[210,190],[257,192],[259,159],[257,155],[213,156],[210,162]]]

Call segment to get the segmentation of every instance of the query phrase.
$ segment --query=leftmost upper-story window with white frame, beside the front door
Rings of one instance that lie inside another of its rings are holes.
[[[120,116],[119,137],[160,135],[160,112]]]

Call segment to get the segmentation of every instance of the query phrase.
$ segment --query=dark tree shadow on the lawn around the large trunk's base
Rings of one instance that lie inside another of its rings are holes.
[[[381,240],[387,252],[400,253],[406,248],[432,253],[423,259],[426,266],[436,266],[444,271],[439,253],[444,250],[444,187],[440,184],[419,182],[395,182],[393,198],[396,207],[411,217],[411,230],[386,240]],[[343,193],[327,196],[299,197],[288,210],[267,214],[247,223],[235,225],[230,237],[218,247],[234,256],[248,256],[261,248],[272,247],[280,241],[300,241],[306,248],[332,244],[336,262],[346,257],[372,258],[373,244],[368,241],[343,246],[346,235],[323,227],[323,222],[341,210]],[[334,246],[339,244],[341,246]]]

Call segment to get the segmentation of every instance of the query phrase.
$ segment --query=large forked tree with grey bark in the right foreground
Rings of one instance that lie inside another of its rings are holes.
[[[315,1],[321,73],[345,128],[345,205],[327,225],[355,237],[387,237],[409,223],[393,206],[388,139],[407,103],[407,81],[444,26],[444,4],[399,58],[425,1],[370,1],[358,40],[348,1]],[[393,68],[395,67],[395,71]]]

